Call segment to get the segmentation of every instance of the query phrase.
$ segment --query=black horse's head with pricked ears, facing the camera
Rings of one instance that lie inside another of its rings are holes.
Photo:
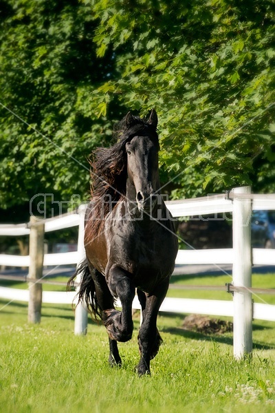
[[[129,129],[129,141],[126,142],[125,149],[131,199],[135,196],[140,211],[151,212],[157,200],[154,195],[159,189],[157,113],[153,109],[144,123],[140,123],[140,118],[129,113],[125,123]]]

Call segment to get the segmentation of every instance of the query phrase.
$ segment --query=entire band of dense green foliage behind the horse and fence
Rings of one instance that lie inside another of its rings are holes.
[[[91,149],[128,109],[152,107],[164,190],[275,191],[274,12],[266,0],[2,0],[1,208],[83,198]]]

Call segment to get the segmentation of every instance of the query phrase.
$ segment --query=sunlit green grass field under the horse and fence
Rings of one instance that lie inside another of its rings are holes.
[[[225,279],[226,278],[226,279]],[[173,284],[223,285],[228,276],[175,277]],[[275,275],[253,275],[253,286],[274,288]],[[19,287],[19,284],[1,285]],[[25,284],[21,284],[24,286]],[[43,286],[47,290],[59,286]],[[176,290],[170,297],[232,299],[219,292]],[[254,297],[274,303],[274,296]],[[275,324],[254,321],[252,359],[232,356],[232,333],[183,330],[183,315],[161,313],[164,343],[151,362],[151,377],[135,365],[133,339],[120,343],[122,368],[110,368],[107,333],[89,321],[87,336],[74,336],[70,306],[44,305],[41,324],[27,323],[28,306],[0,301],[0,412],[274,412]]]

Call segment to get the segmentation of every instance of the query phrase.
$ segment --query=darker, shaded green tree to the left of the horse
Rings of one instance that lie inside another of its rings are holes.
[[[0,207],[20,221],[38,193],[52,193],[65,211],[74,193],[87,199],[87,156],[109,144],[112,116],[122,114],[115,104],[108,120],[90,110],[113,63],[108,53],[96,58],[89,6],[6,0],[0,9]]]

